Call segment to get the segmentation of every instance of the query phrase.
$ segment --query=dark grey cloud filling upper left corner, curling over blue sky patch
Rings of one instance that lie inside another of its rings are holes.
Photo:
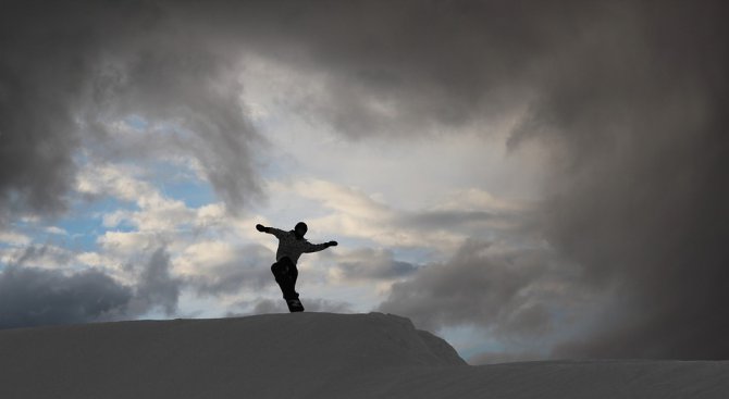
[[[129,115],[190,134],[161,146],[198,159],[232,211],[258,196],[256,133],[238,97],[233,48],[162,2],[3,3],[0,15],[0,216],[53,214],[82,140],[118,154],[107,123]],[[211,22],[208,22],[211,24]],[[148,152],[160,140],[127,149]]]

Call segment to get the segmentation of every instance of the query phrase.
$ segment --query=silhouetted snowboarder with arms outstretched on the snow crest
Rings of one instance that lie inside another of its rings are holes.
[[[304,239],[308,227],[306,223],[299,222],[291,232],[284,232],[275,227],[265,227],[261,224],[256,225],[256,229],[268,233],[279,238],[279,249],[276,250],[276,263],[271,265],[271,272],[281,287],[288,310],[292,312],[302,312],[304,306],[299,301],[299,295],[296,292],[296,278],[299,275],[296,269],[296,262],[301,253],[318,252],[329,247],[336,246],[336,241],[324,244],[311,244]]]

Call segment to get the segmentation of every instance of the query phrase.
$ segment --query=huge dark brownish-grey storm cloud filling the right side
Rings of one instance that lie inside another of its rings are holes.
[[[548,85],[519,133],[566,150],[546,237],[588,287],[620,298],[556,356],[727,359],[727,10],[646,4],[638,36],[603,33],[610,46]]]

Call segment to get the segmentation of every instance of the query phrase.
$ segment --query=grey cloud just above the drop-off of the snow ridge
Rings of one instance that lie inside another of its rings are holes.
[[[380,311],[431,331],[471,326],[508,347],[554,345],[595,298],[579,273],[548,248],[466,241],[446,262],[424,265],[393,284]]]

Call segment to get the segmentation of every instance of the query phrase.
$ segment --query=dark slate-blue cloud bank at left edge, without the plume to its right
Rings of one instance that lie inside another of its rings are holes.
[[[118,314],[132,289],[102,272],[9,265],[0,273],[0,328],[87,323]]]

